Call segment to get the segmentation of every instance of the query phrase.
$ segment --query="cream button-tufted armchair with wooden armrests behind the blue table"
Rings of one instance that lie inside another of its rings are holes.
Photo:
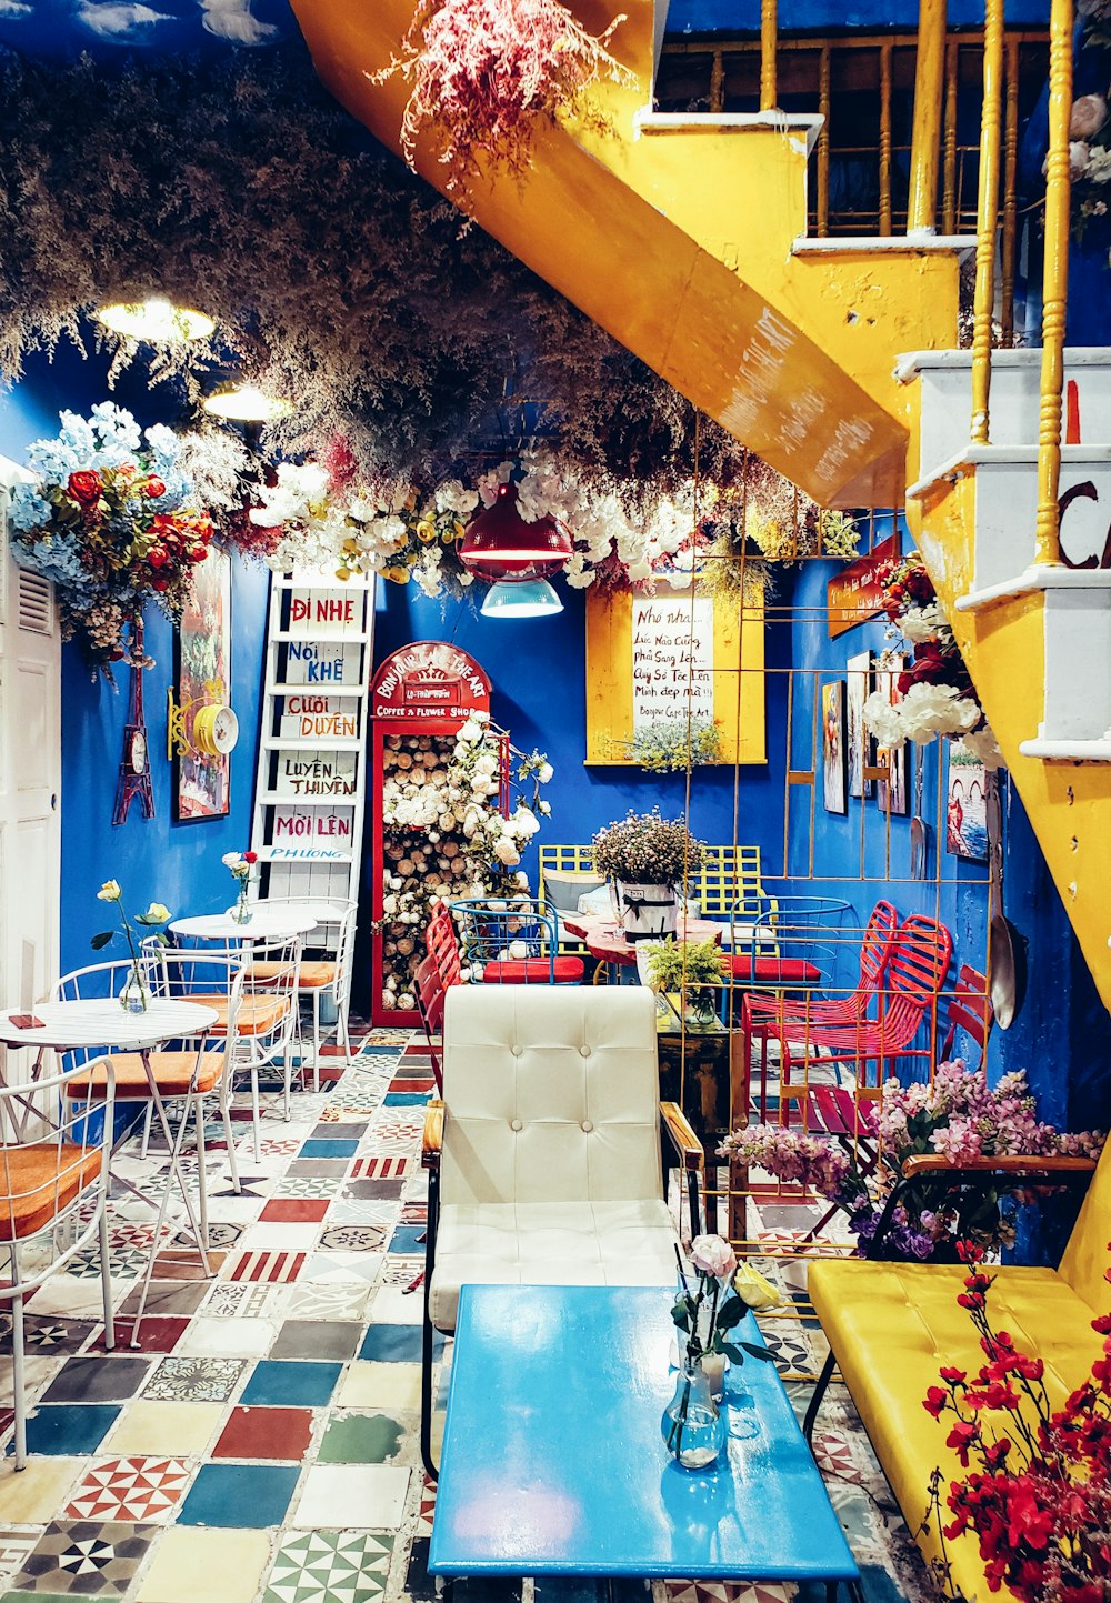
[[[656,999],[633,986],[452,986],[444,1095],[428,1106],[422,1456],[431,1464],[434,1330],[459,1290],[675,1286],[661,1119],[699,1230],[702,1148],[659,1101]]]

